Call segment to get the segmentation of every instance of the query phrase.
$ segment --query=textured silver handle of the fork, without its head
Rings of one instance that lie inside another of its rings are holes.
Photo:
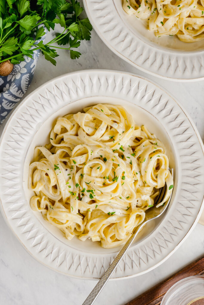
[[[125,243],[125,245],[122,247],[121,251],[118,253],[118,255],[115,257],[115,259],[113,260],[113,262],[110,264],[110,266],[108,267],[108,269],[106,270],[106,272],[103,274],[102,278],[100,278],[100,280],[98,281],[98,283],[95,285],[94,289],[91,291],[91,293],[89,294],[89,296],[87,297],[87,299],[83,302],[82,305],[92,305],[96,298],[98,297],[99,293],[102,291],[103,287],[106,285],[106,282],[109,280],[111,274],[113,273],[113,271],[115,270],[115,268],[117,267],[117,265],[120,263],[122,257],[124,256],[124,254],[126,253],[126,251],[128,250],[128,248],[130,247],[130,245],[132,244],[135,236],[137,235],[137,233],[140,231],[141,226],[138,226],[137,228],[135,228],[135,231],[132,233],[132,235],[130,236],[130,238],[128,239],[128,241]]]

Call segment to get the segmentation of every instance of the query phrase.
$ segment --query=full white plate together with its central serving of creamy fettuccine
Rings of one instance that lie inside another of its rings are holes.
[[[141,230],[113,278],[135,276],[161,264],[196,224],[202,149],[189,117],[150,81],[106,70],[66,74],[24,99],[7,123],[1,210],[41,263],[99,278],[166,183],[159,205],[172,194],[167,212]]]

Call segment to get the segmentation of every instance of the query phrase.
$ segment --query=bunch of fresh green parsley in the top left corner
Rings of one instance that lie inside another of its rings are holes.
[[[0,63],[8,59],[19,63],[37,49],[54,65],[57,48],[69,50],[72,59],[79,58],[81,53],[75,48],[81,40],[90,40],[92,30],[88,18],[80,20],[82,11],[75,0],[0,0]],[[38,42],[45,34],[44,27],[54,30],[56,23],[61,32],[46,44]],[[58,46],[53,45],[56,43]]]

